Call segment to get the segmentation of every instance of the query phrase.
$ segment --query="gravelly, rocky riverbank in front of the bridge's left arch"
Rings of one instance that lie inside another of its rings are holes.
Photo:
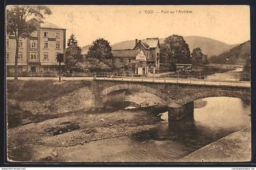
[[[84,114],[81,110],[73,115],[9,129],[7,134],[9,158],[33,161],[33,158],[21,156],[24,155],[24,148],[34,145],[68,147],[90,141],[133,135],[155,127],[159,121],[160,118],[143,110],[136,112],[119,110],[98,114]]]

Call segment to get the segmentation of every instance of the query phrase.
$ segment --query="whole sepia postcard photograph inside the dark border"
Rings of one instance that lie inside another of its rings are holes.
[[[251,161],[249,5],[7,5],[7,161]]]

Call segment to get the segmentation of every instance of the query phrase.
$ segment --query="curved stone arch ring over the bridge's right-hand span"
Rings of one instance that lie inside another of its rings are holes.
[[[199,91],[194,93],[194,95],[188,95],[182,97],[175,101],[177,104],[185,105],[189,102],[196,101],[197,99],[204,99],[207,97],[236,97],[240,99],[244,99],[247,101],[251,100],[251,94],[243,93],[241,91],[225,91],[225,90],[216,90],[216,91]]]

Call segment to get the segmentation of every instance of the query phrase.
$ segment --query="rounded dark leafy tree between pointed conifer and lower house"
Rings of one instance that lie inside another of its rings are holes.
[[[98,58],[99,62],[104,62],[104,60],[111,60],[113,58],[112,48],[107,40],[99,38],[93,41],[87,52],[88,58]]]

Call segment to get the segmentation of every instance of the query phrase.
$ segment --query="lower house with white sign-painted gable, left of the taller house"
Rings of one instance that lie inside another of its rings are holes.
[[[141,49],[112,50],[114,65],[119,71],[129,71],[136,75],[148,73],[147,58]]]

